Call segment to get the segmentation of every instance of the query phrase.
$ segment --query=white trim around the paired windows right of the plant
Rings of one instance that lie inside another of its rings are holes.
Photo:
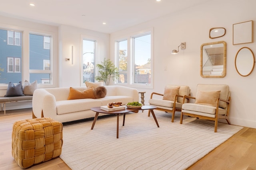
[[[150,63],[151,63],[151,79],[150,79],[150,82],[151,84],[134,84],[132,81],[133,81],[133,67],[134,67],[134,55],[133,54],[130,54],[131,52],[133,53],[133,50],[132,50],[132,38],[134,37],[140,37],[142,35],[147,35],[148,33],[151,34],[151,57],[150,57]],[[117,42],[119,41],[123,41],[125,39],[127,39],[127,56],[128,56],[128,61],[127,61],[127,83],[118,83],[116,82],[116,84],[118,85],[122,85],[122,86],[128,86],[128,87],[132,87],[132,88],[149,88],[149,89],[152,89],[153,88],[153,82],[154,82],[154,67],[153,67],[153,61],[154,61],[154,51],[153,51],[153,47],[154,47],[154,44],[153,44],[153,37],[154,37],[154,31],[153,31],[153,27],[151,28],[148,28],[148,29],[144,29],[144,30],[140,30],[140,31],[137,31],[137,32],[134,32],[134,33],[128,33],[126,34],[125,36],[122,36],[120,38],[116,38],[114,40],[114,47],[115,47],[115,50],[114,50],[114,56],[115,56],[115,62],[116,62],[116,66],[118,66],[118,48],[117,48]],[[130,57],[129,57],[130,56]],[[129,58],[131,58],[129,60]]]

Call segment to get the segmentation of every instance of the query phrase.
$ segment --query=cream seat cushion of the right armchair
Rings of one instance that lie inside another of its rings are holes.
[[[205,116],[212,117],[209,114],[214,115],[216,113],[216,106],[209,106],[209,105],[203,105],[203,104],[193,104],[193,103],[186,103],[182,105],[182,112],[186,113],[192,113],[192,114],[207,114]],[[226,115],[226,110],[219,107],[218,109],[219,115]]]

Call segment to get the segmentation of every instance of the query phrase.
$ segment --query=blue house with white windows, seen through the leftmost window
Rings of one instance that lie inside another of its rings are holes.
[[[0,84],[22,80],[21,38],[22,32],[0,29]]]

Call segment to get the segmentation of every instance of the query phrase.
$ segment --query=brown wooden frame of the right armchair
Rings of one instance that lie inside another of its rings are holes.
[[[187,96],[185,95],[183,97],[183,102],[182,104],[184,104],[186,99],[196,99],[195,97],[192,96]],[[226,115],[218,115],[218,110],[219,110],[219,102],[226,102],[227,103],[227,111],[226,111]],[[230,121],[228,119],[228,114],[229,114],[229,109],[230,109],[230,101],[231,101],[231,97],[229,96],[228,100],[223,100],[218,98],[218,100],[216,101],[216,115],[215,117],[207,117],[207,116],[202,116],[202,115],[196,115],[196,114],[192,114],[192,113],[186,113],[186,112],[182,112],[180,114],[180,124],[182,124],[183,121],[183,115],[187,115],[187,116],[191,116],[191,117],[197,117],[199,119],[208,119],[208,120],[212,120],[215,122],[214,124],[214,132],[217,132],[217,128],[218,128],[218,119],[226,119],[226,121],[228,122],[228,124],[230,125]]]

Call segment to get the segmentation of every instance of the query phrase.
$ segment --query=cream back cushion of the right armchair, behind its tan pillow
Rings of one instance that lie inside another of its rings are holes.
[[[229,92],[229,86],[226,84],[198,84],[197,88],[196,88],[197,92],[199,90],[201,91],[219,91],[220,90],[220,96],[219,98],[224,99],[224,100],[228,100],[229,96],[230,96],[230,92]],[[221,108],[226,108],[227,107],[227,103],[226,102],[219,102],[219,107]]]

